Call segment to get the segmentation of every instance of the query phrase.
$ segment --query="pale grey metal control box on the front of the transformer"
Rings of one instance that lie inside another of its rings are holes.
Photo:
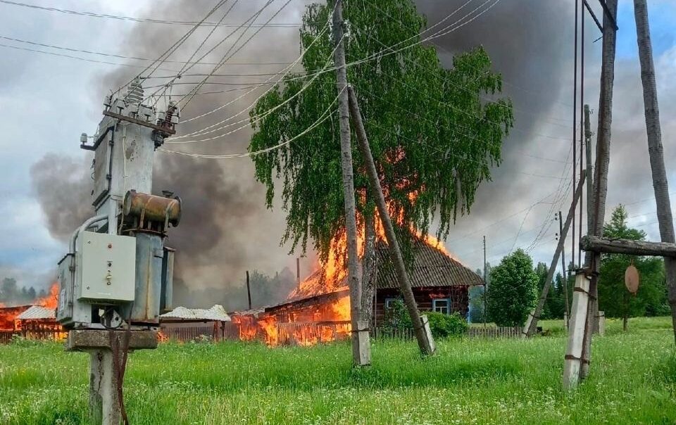
[[[136,238],[83,231],[75,253],[77,300],[133,301]]]

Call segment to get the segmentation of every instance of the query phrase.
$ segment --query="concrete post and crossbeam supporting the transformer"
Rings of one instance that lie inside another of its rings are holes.
[[[68,333],[65,349],[89,353],[89,423],[119,425],[122,420],[115,364],[122,364],[127,331],[87,329]],[[157,332],[130,331],[129,350],[157,348]],[[120,349],[113,351],[114,347]],[[118,357],[119,356],[119,357]]]

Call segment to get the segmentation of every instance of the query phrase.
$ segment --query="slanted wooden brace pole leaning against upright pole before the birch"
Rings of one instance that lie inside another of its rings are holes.
[[[396,272],[397,281],[399,281],[399,290],[403,296],[403,302],[406,304],[408,314],[411,315],[411,322],[413,322],[415,338],[418,339],[420,351],[424,355],[432,355],[434,354],[434,339],[432,338],[432,332],[430,332],[430,326],[427,322],[427,317],[420,316],[420,312],[418,312],[418,305],[415,303],[413,289],[411,289],[411,281],[408,280],[406,265],[404,265],[403,262],[401,249],[399,249],[399,242],[396,239],[394,226],[392,225],[392,220],[390,219],[389,212],[387,210],[387,204],[385,203],[385,197],[382,194],[380,179],[378,178],[378,173],[375,169],[375,163],[373,163],[373,156],[371,155],[371,148],[368,145],[368,138],[366,137],[364,124],[361,120],[361,112],[359,110],[357,97],[354,94],[354,90],[351,86],[348,87],[348,92],[350,113],[354,122],[359,152],[361,153],[362,159],[366,165],[366,173],[368,175],[371,193],[373,194],[373,198],[375,198],[375,204],[385,230],[387,246],[392,257],[392,262],[394,262],[394,272]]]

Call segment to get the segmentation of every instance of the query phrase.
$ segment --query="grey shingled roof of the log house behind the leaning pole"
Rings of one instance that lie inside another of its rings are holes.
[[[411,279],[413,288],[484,284],[479,275],[439,248],[418,239],[413,243],[413,250],[415,253],[413,267],[407,267],[408,278]],[[394,264],[384,241],[378,241],[376,255],[378,264],[376,288],[399,288]]]

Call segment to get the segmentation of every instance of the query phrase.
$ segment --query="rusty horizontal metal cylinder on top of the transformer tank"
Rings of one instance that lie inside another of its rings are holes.
[[[164,222],[177,227],[181,221],[181,198],[165,197],[128,191],[123,203],[126,216],[139,217],[142,222]]]

